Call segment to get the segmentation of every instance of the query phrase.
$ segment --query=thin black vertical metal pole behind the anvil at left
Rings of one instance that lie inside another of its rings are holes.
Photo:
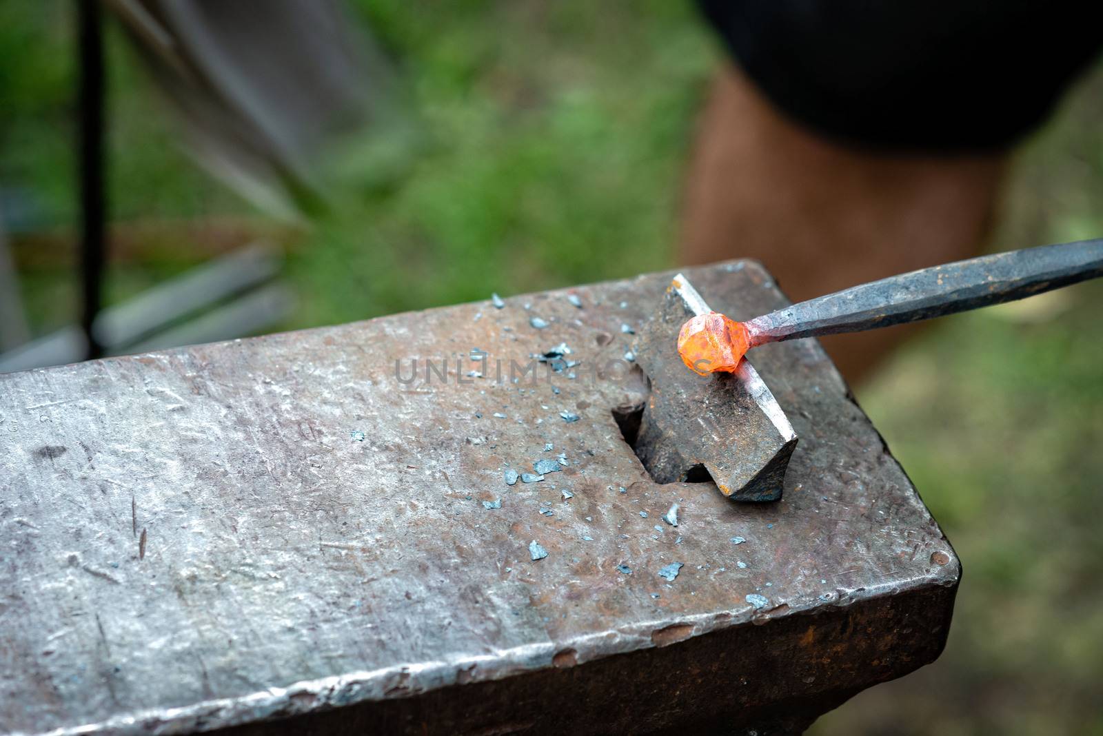
[[[81,192],[81,328],[86,357],[98,358],[103,346],[92,325],[103,300],[107,210],[104,192],[104,39],[99,2],[75,0],[79,66],[79,192]]]

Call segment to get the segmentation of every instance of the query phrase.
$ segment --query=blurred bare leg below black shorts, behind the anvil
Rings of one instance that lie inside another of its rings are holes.
[[[976,255],[1004,154],[865,152],[781,117],[730,65],[717,74],[686,182],[681,261],[754,258],[793,301]],[[860,380],[915,326],[824,339]]]

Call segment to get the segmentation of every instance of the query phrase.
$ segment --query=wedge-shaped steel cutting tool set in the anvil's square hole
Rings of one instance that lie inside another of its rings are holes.
[[[704,467],[720,493],[738,501],[781,498],[796,433],[754,367],[698,376],[683,364],[675,338],[686,320],[709,312],[681,273],[640,331],[636,360],[651,381],[635,452],[660,483]]]

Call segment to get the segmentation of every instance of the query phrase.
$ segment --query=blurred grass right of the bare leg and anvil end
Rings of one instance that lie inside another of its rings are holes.
[[[1103,234],[1103,69],[1019,153],[995,243]],[[961,555],[946,650],[816,734],[1103,734],[1103,284],[941,321],[863,407]]]

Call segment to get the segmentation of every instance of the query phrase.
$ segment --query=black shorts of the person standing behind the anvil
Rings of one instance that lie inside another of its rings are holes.
[[[1046,118],[1103,41],[1096,0],[698,3],[782,111],[896,150],[1009,145]]]

